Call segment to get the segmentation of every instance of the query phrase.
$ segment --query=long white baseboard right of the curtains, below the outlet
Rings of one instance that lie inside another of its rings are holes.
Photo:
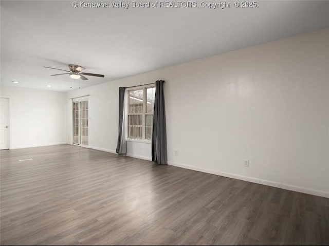
[[[220,172],[220,171],[216,171],[216,170],[212,170],[212,169],[205,169],[205,168],[201,168],[201,167],[195,167],[195,166],[179,164],[179,163],[174,163],[174,162],[168,162],[168,164],[172,165],[172,166],[177,166],[177,167],[191,169],[194,171],[203,172],[203,173],[214,174],[214,175],[224,176],[224,177],[228,177],[228,178],[244,180],[244,181],[248,181],[248,182],[252,182],[252,183],[278,187],[278,188],[282,188],[282,189],[289,190],[289,191],[301,192],[301,193],[306,193],[306,194],[310,194],[310,195],[329,198],[329,192],[326,192],[326,191],[312,190],[312,189],[301,187],[301,186],[284,184],[284,183],[279,183],[279,182],[275,182],[275,181],[258,179],[258,178],[248,177],[248,176],[237,175],[237,174],[225,173],[225,172]]]

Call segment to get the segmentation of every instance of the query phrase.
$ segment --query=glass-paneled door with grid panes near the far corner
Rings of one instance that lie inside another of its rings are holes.
[[[73,102],[73,144],[88,145],[88,100]]]

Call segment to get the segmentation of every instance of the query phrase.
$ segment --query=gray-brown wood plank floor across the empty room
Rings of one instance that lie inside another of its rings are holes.
[[[71,145],[0,154],[3,245],[329,244],[327,198]]]

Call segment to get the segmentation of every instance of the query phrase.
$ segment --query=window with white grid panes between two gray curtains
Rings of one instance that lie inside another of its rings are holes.
[[[152,138],[155,86],[127,91],[128,138]]]

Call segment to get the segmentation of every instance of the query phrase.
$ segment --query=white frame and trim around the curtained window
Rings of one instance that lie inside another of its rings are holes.
[[[151,115],[150,113],[145,113],[145,110],[146,110],[146,107],[145,107],[145,98],[147,97],[147,93],[145,93],[145,89],[147,90],[148,88],[154,88],[155,87],[155,83],[154,84],[148,84],[148,85],[142,85],[142,86],[134,86],[134,87],[130,87],[129,89],[127,89],[125,91],[125,96],[126,96],[126,108],[125,108],[125,111],[126,111],[126,125],[125,125],[125,128],[126,128],[126,131],[127,131],[127,134],[126,134],[126,141],[127,142],[137,142],[137,143],[147,143],[147,144],[151,144],[152,143],[152,140],[149,140],[149,139],[145,139],[145,125],[146,125],[146,122],[145,122],[145,117],[142,117],[142,125],[143,125],[143,128],[142,128],[142,136],[143,138],[141,139],[138,139],[138,138],[129,138],[128,135],[129,135],[129,122],[128,122],[128,116],[129,116],[129,92],[132,91],[132,90],[141,90],[143,89],[144,90],[144,93],[143,93],[143,97],[144,97],[144,100],[143,100],[143,110],[144,112],[142,113],[143,116],[145,115]],[[153,114],[152,114],[153,115]]]

